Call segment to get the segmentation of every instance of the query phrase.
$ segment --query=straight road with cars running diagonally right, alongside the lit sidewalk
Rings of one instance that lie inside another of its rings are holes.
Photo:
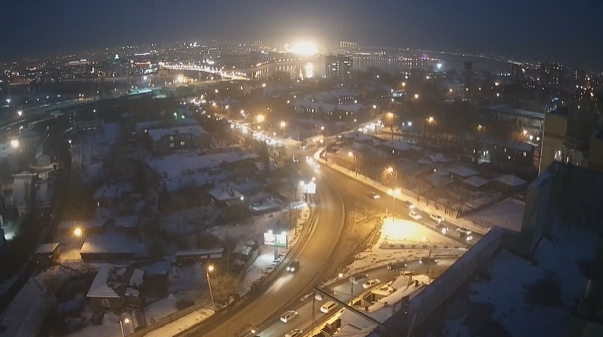
[[[362,205],[362,206],[369,206],[369,207],[375,207],[377,209],[388,209],[391,211],[392,206],[395,205],[394,208],[394,213],[396,214],[397,217],[402,218],[402,219],[407,219],[407,220],[412,220],[415,222],[418,222],[430,229],[434,230],[434,233],[437,233],[438,235],[443,235],[438,229],[437,229],[437,223],[433,220],[431,220],[431,218],[429,217],[429,215],[431,213],[422,210],[420,207],[417,207],[415,205],[415,209],[414,211],[416,213],[418,213],[419,215],[421,215],[421,219],[420,220],[414,220],[412,219],[408,213],[411,211],[408,204],[406,203],[406,201],[404,200],[400,200],[400,199],[396,199],[395,204],[392,201],[392,197],[389,195],[382,195],[382,192],[370,185],[364,184],[361,181],[358,181],[352,177],[349,177],[339,171],[336,171],[330,167],[328,167],[327,165],[323,165],[321,166],[321,169],[325,172],[328,172],[329,177],[331,180],[333,180],[337,186],[340,188],[342,195],[347,198],[351,198],[353,199],[353,203],[356,205]],[[380,195],[379,199],[372,199],[369,196],[369,193],[373,192],[373,193],[377,193]],[[457,228],[462,228],[461,226],[458,226],[454,223],[450,223],[449,221],[445,221],[445,224],[447,227],[449,227],[449,229],[452,231],[456,231]],[[481,235],[477,234],[477,233],[472,233],[473,235],[473,240],[467,242],[466,240],[460,239],[460,238],[455,238],[453,236],[450,235],[446,235],[447,237],[458,241],[459,243],[462,244],[475,244],[475,242],[477,242],[479,239],[482,238]]]

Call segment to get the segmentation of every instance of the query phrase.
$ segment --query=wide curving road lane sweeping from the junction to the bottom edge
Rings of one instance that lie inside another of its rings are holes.
[[[246,308],[233,314],[226,322],[211,331],[194,329],[186,336],[233,336],[244,333],[245,329],[258,326],[272,316],[280,315],[282,307],[291,300],[297,300],[319,283],[317,277],[329,262],[333,254],[337,238],[340,236],[344,209],[337,188],[328,180],[317,177],[320,188],[317,193],[322,200],[316,206],[317,223],[314,232],[301,247],[297,259],[300,261],[299,271],[285,274],[277,278],[262,296]]]

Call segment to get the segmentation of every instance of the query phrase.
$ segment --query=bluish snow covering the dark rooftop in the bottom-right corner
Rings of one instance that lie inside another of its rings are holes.
[[[491,306],[490,319],[511,336],[559,336],[567,331],[575,301],[584,294],[581,265],[591,261],[596,247],[593,233],[557,225],[552,240],[543,238],[532,260],[501,250],[490,263],[490,277],[476,277],[469,284],[469,299],[480,307]]]

